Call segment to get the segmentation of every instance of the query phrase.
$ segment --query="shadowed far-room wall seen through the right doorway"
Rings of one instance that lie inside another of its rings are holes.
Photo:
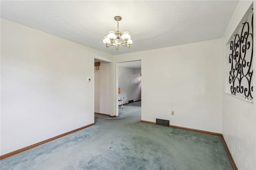
[[[118,99],[124,97],[124,103],[141,100],[141,76],[140,70],[128,67],[118,67],[118,87],[120,94]]]

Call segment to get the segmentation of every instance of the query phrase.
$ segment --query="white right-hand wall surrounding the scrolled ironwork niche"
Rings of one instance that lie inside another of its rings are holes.
[[[225,44],[238,26],[252,1],[240,1],[223,36],[223,80],[225,78]],[[256,7],[254,3],[254,13]],[[255,22],[255,20],[254,20]],[[254,40],[255,40],[254,34]],[[255,43],[254,47],[255,49]],[[255,58],[255,54],[253,56]],[[256,70],[254,59],[254,70]],[[255,73],[253,73],[255,74]],[[255,77],[255,75],[254,75]],[[254,79],[255,80],[255,79]],[[253,83],[255,88],[255,81]],[[223,84],[224,89],[224,84]],[[253,96],[255,97],[255,89]],[[223,135],[239,170],[256,169],[256,104],[223,95]]]

